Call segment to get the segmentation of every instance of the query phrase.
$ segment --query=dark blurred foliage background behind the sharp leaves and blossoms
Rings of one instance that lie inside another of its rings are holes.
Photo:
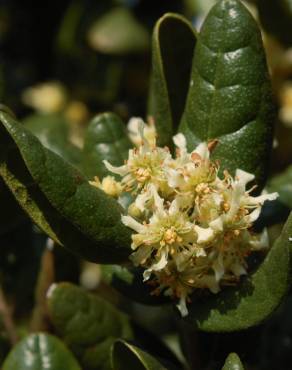
[[[1,101],[45,146],[81,166],[85,129],[97,113],[112,111],[125,122],[132,116],[145,117],[151,32],[157,19],[177,12],[199,28],[215,2],[1,0]],[[277,102],[268,188],[279,191],[280,201],[264,207],[261,218],[271,225],[270,236],[275,239],[292,209],[292,1],[253,0],[246,5],[262,26]],[[292,364],[291,297],[273,319],[257,328],[186,336],[170,308],[130,302],[101,280],[98,265],[55,248],[20,210],[2,180],[0,209],[0,284],[20,337],[48,329],[50,323],[42,311],[45,292],[52,282],[66,280],[99,293],[130,314],[137,336],[154,354],[171,357],[170,348],[194,369],[219,369],[233,351],[250,370],[286,370]],[[164,344],[157,345],[153,335]],[[182,343],[188,348],[186,356]],[[0,362],[8,350],[0,321]]]

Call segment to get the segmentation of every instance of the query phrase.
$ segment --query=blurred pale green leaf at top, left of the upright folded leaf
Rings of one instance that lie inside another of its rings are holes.
[[[99,18],[89,30],[88,41],[93,49],[114,55],[140,53],[149,47],[147,30],[122,7]]]

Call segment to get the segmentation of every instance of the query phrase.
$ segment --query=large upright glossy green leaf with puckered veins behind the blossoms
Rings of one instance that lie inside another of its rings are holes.
[[[195,48],[180,131],[189,149],[218,139],[221,170],[254,173],[264,185],[272,144],[274,105],[260,30],[238,0],[220,0]]]

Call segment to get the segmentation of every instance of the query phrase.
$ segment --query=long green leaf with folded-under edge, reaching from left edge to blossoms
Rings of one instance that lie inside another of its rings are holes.
[[[9,115],[0,120],[0,174],[35,223],[90,261],[127,259],[130,232],[117,202]]]

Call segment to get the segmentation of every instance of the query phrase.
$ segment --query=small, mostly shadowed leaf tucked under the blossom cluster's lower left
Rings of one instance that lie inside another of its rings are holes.
[[[103,280],[125,297],[148,305],[170,303],[171,298],[153,295],[153,286],[143,282],[143,270],[118,265],[102,266]]]

